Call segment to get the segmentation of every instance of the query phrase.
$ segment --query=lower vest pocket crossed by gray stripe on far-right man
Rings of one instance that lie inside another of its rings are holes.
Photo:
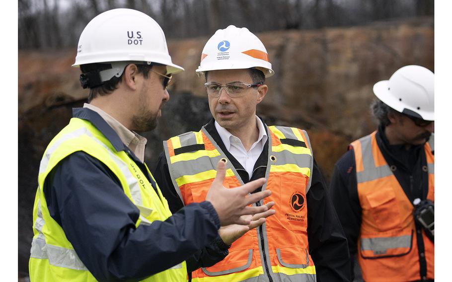
[[[387,237],[360,238],[360,252],[365,259],[404,256],[413,247],[413,232]]]

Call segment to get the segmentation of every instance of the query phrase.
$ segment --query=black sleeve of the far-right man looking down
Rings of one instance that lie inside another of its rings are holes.
[[[355,257],[361,225],[361,206],[358,199],[353,149],[347,151],[336,162],[329,191],[331,200],[347,236],[351,260],[351,274],[352,279],[354,279]]]

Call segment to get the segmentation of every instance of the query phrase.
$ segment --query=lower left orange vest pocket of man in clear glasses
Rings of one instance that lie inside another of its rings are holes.
[[[231,274],[245,270],[251,266],[253,260],[253,249],[236,250],[229,252],[224,260],[212,267],[201,268],[209,276]]]

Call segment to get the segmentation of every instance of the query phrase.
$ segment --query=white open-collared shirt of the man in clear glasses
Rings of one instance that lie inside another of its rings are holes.
[[[262,123],[257,116],[256,125],[259,129],[259,137],[257,138],[257,141],[251,145],[250,149],[246,151],[242,141],[240,141],[239,138],[230,134],[225,128],[221,127],[217,121],[215,121],[215,128],[225,144],[226,149],[243,166],[246,172],[248,172],[249,178],[253,175],[254,164],[262,153],[265,142],[267,142],[268,139],[264,123]]]

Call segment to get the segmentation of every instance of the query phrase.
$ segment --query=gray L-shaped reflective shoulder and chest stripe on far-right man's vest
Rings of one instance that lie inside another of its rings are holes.
[[[374,154],[372,152],[372,137],[365,136],[359,140],[361,142],[361,156],[363,158],[363,171],[356,173],[358,183],[363,183],[378,178],[393,175],[389,166],[375,166]]]

